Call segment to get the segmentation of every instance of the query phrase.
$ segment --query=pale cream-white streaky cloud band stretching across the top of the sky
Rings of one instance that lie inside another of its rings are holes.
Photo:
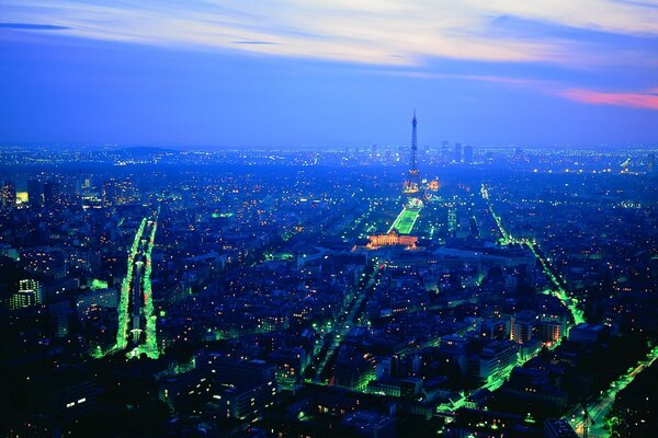
[[[529,25],[506,32],[515,24],[499,22],[503,16],[658,36],[658,10],[648,0],[1,1],[8,18],[48,20],[87,38],[389,66],[422,67],[432,58],[570,67],[601,58],[614,62],[614,53],[577,35],[547,36]]]

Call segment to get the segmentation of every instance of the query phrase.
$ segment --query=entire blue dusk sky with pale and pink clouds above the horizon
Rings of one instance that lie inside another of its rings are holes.
[[[658,1],[0,0],[0,141],[658,141]]]

